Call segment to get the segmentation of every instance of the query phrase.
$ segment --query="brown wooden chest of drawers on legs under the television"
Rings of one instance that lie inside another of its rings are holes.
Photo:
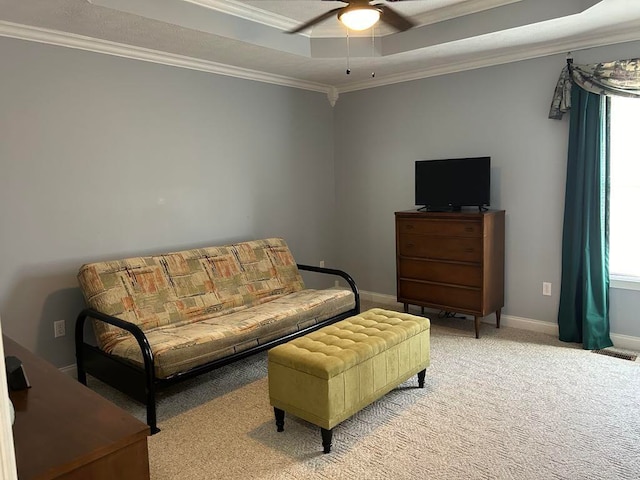
[[[504,306],[504,210],[396,212],[398,302],[480,318]]]

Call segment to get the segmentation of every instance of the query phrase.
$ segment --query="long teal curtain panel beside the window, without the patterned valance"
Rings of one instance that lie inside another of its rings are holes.
[[[562,238],[560,340],[594,350],[609,338],[609,101],[571,88]]]

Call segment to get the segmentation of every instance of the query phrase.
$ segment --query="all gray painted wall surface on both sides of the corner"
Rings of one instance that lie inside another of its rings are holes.
[[[505,314],[555,323],[568,122],[547,112],[564,56],[343,94],[334,109],[324,94],[6,38],[0,61],[3,331],[58,366],[75,361],[87,261],[278,235],[298,261],[395,295],[393,212],[413,207],[424,158],[492,156]],[[612,331],[640,337],[640,292],[611,299]]]

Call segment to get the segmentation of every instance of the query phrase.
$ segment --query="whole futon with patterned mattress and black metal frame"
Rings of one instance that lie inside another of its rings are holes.
[[[301,270],[347,287],[307,288]],[[151,433],[159,389],[360,312],[347,273],[297,264],[280,238],[85,264],[78,283],[78,380],[145,403]]]

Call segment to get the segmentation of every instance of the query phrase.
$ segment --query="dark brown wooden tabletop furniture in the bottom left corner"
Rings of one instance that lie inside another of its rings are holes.
[[[149,427],[3,335],[31,388],[10,391],[18,478],[149,478]]]

